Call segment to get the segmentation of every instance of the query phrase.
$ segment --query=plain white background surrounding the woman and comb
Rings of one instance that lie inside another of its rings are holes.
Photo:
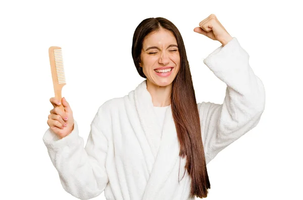
[[[144,80],[131,44],[145,18],[178,27],[197,102],[223,103],[226,84],[203,63],[221,43],[193,32],[210,14],[249,54],[266,107],[258,126],[208,165],[207,199],[303,199],[303,15],[295,2],[1,1],[0,199],[76,199],[63,189],[42,141],[54,96],[49,46],[62,47],[62,93],[86,141],[98,107]]]

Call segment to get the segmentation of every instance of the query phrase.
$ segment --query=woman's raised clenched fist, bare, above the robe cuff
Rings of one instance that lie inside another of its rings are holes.
[[[201,21],[199,26],[200,27],[195,27],[193,31],[217,40],[221,42],[223,46],[232,39],[232,36],[225,30],[214,14],[211,14]]]

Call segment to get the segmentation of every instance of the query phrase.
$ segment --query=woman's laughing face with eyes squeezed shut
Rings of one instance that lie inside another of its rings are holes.
[[[158,86],[168,86],[180,68],[177,40],[173,33],[161,28],[143,41],[140,67],[147,80]]]

